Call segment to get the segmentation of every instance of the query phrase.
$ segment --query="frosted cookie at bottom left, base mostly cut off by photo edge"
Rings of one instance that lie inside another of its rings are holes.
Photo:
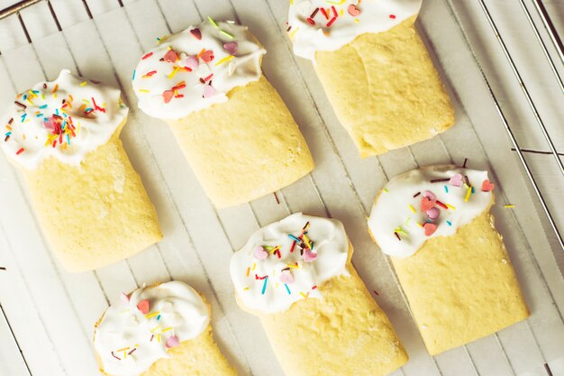
[[[96,323],[94,347],[107,376],[235,376],[212,335],[210,307],[183,282],[122,295]]]

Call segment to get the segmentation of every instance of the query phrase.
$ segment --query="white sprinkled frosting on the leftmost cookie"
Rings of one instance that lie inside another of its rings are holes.
[[[78,166],[88,152],[108,142],[127,113],[120,90],[63,69],[56,80],[15,98],[0,117],[0,144],[10,160],[28,170],[49,157]]]

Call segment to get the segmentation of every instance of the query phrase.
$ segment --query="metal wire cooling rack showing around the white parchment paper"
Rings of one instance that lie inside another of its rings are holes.
[[[90,6],[88,4],[88,0],[76,0],[76,1],[82,2],[82,4],[84,5],[84,12],[86,12],[86,14],[87,14],[87,16],[90,20],[95,18],[95,15],[93,15],[93,13],[91,12]],[[89,0],[89,1],[96,1],[96,0]],[[120,7],[124,6],[122,0],[115,0],[115,1],[117,2],[117,4]],[[459,18],[458,18],[457,12],[456,12],[456,8],[455,8],[454,4],[452,3],[454,1],[455,0],[444,0],[445,5],[450,7],[450,12],[454,15],[454,17],[459,22]],[[546,11],[546,8],[542,4],[542,1],[541,0],[530,0],[530,1],[532,3],[532,6],[534,7],[534,9],[537,11],[539,18],[541,19],[541,23],[544,26],[544,30],[540,30],[539,27],[537,26],[537,24],[533,21],[532,14],[529,11],[529,8],[527,7],[527,5],[525,4],[525,0],[519,0],[519,3],[521,5],[521,7],[523,9],[523,13],[525,14],[527,21],[528,21],[528,23],[529,23],[529,25],[532,29],[532,32],[534,33],[537,41],[539,42],[539,44],[541,46],[541,50],[543,51],[544,57],[547,60],[547,64],[549,65],[550,70],[552,71],[555,80],[558,82],[560,90],[564,94],[564,84],[563,84],[562,78],[559,75],[559,68],[558,68],[560,64],[564,64],[564,51],[563,51],[564,47],[563,47],[562,41],[560,40],[559,33],[557,32],[554,24],[551,22],[550,14],[548,14],[548,12]],[[21,25],[21,28],[22,28],[22,31],[25,35],[26,40],[29,43],[32,43],[32,37],[30,35],[30,32],[28,31],[28,27],[26,26],[26,23],[23,20],[23,16],[22,16],[21,11],[24,8],[30,7],[32,5],[40,4],[40,3],[46,4],[49,7],[49,11],[50,11],[50,14],[52,16],[53,23],[55,23],[57,30],[59,32],[62,32],[63,28],[61,27],[61,23],[59,23],[59,17],[56,14],[53,6],[51,5],[50,0],[23,0],[23,1],[20,1],[19,3],[16,3],[12,6],[5,8],[4,10],[0,11],[0,21],[5,19],[5,18],[8,18],[8,17],[16,17],[18,22]],[[488,6],[487,6],[486,3],[487,2],[485,0],[479,0],[479,4],[480,4],[480,6],[483,10],[485,17],[487,18],[487,22],[491,26],[492,32],[494,32],[495,35],[496,35],[496,39],[499,42],[499,46],[500,46],[501,50],[503,50],[503,53],[504,53],[505,58],[507,60],[508,67],[512,70],[512,72],[514,74],[514,79],[516,80],[518,85],[521,87],[521,90],[523,92],[523,96],[525,97],[526,102],[529,105],[530,111],[532,112],[532,115],[534,116],[534,119],[536,121],[537,126],[539,127],[539,129],[541,130],[541,133],[544,136],[546,146],[549,149],[549,151],[532,150],[532,149],[521,148],[519,146],[519,142],[517,142],[516,137],[514,135],[514,129],[512,128],[511,124],[507,120],[507,117],[505,116],[504,110],[502,109],[502,106],[500,105],[498,97],[496,96],[494,89],[490,85],[490,81],[487,77],[487,74],[481,68],[479,60],[478,60],[474,50],[471,47],[471,43],[468,41],[468,35],[462,29],[461,29],[461,32],[465,36],[465,41],[468,43],[468,49],[470,51],[472,51],[474,60],[477,64],[478,68],[480,69],[482,77],[483,77],[483,79],[484,79],[484,81],[487,85],[487,89],[488,89],[489,94],[491,96],[491,99],[493,101],[493,104],[495,105],[497,115],[499,115],[499,118],[501,119],[501,122],[502,122],[502,124],[505,128],[505,132],[507,133],[507,135],[508,135],[508,137],[509,137],[509,139],[510,139],[512,145],[513,145],[513,148],[514,148],[513,150],[516,151],[516,154],[518,156],[518,160],[520,161],[520,163],[523,167],[523,172],[526,175],[527,179],[530,181],[532,190],[534,191],[535,196],[538,198],[538,203],[540,204],[541,209],[542,209],[544,215],[546,216],[546,219],[548,220],[548,223],[549,223],[549,226],[550,226],[549,231],[552,231],[555,234],[556,239],[558,240],[558,243],[559,243],[559,247],[562,250],[564,250],[564,241],[563,241],[563,238],[562,238],[562,233],[560,232],[560,229],[559,229],[558,225],[556,224],[554,217],[552,216],[552,211],[554,211],[556,208],[550,207],[547,204],[545,197],[543,196],[543,193],[541,191],[541,187],[538,184],[538,182],[536,181],[536,179],[534,178],[533,171],[530,167],[530,164],[527,161],[527,159],[525,158],[525,154],[528,153],[528,152],[550,154],[553,157],[554,163],[556,163],[560,174],[564,175],[564,165],[563,165],[562,160],[560,158],[560,156],[562,154],[559,153],[559,151],[557,150],[557,147],[554,145],[554,142],[553,142],[553,139],[552,139],[553,137],[550,135],[550,132],[548,131],[548,129],[545,125],[545,122],[543,121],[541,115],[539,114],[539,111],[537,110],[537,107],[535,105],[535,101],[532,98],[530,91],[528,90],[528,88],[525,86],[525,84],[523,82],[521,72],[520,72],[519,69],[517,69],[517,67],[514,63],[514,58],[512,57],[511,53],[509,52],[509,50],[507,49],[507,47],[505,45],[505,41],[504,41],[504,38],[503,38],[503,32],[499,31],[499,29],[496,25],[496,21],[495,21],[494,17],[492,16],[492,14],[490,14]],[[197,9],[197,7],[196,7],[196,9]],[[270,11],[270,12],[272,12],[272,11]],[[461,23],[459,22],[459,24],[461,24]],[[169,27],[168,27],[168,29],[170,31]],[[542,38],[543,34],[548,35],[548,37],[551,41],[551,45],[549,45],[549,46],[546,45],[546,43],[544,42],[544,39]],[[551,50],[552,50],[552,52],[550,52]],[[558,60],[555,61],[551,57],[552,56],[551,53],[556,53],[557,56],[559,57],[559,61]],[[2,55],[2,51],[0,51],[0,56],[1,55]],[[76,63],[75,63],[75,65],[76,65]],[[76,66],[76,69],[78,69],[77,66]],[[116,78],[117,78],[117,75],[116,75]],[[118,79],[118,81],[119,81],[119,79]],[[333,145],[333,149],[334,149],[334,145]],[[284,197],[282,197],[282,201],[284,202]],[[284,204],[286,205],[287,209],[289,210],[286,202],[284,202]],[[218,218],[219,218],[219,216],[218,216]],[[257,223],[259,223],[259,220],[256,218],[256,216],[255,216],[255,220],[256,220]],[[220,220],[220,222],[221,222],[221,220]],[[168,274],[170,275],[170,273],[168,273]],[[106,300],[108,300],[107,297],[106,297]],[[10,326],[10,323],[7,319],[6,314],[5,314],[5,309],[4,309],[4,307],[2,307],[1,304],[0,304],[0,310],[2,311],[2,316],[3,316],[3,319],[5,320],[5,325],[8,327],[8,329],[11,333],[11,336],[12,336],[11,340],[14,342],[14,345],[18,348],[18,353],[19,353],[19,356],[21,357],[21,361],[25,365],[25,369],[27,370],[29,375],[32,376],[32,371],[30,370],[30,367],[28,366],[28,364],[26,362],[25,356],[22,353],[20,345],[18,344],[17,337],[14,334],[14,330]],[[498,340],[498,342],[499,342],[499,340]],[[466,352],[468,353],[468,350],[466,350]],[[469,357],[469,353],[468,353],[468,357]],[[438,369],[438,367],[437,367],[437,369]],[[549,376],[553,375],[548,364],[544,364],[544,369],[545,369],[547,375],[549,375]],[[478,375],[479,372],[476,369],[476,367],[475,367],[475,370],[476,370],[476,374]],[[439,372],[441,373],[440,370],[439,370]],[[554,376],[556,376],[556,375],[554,375]]]

